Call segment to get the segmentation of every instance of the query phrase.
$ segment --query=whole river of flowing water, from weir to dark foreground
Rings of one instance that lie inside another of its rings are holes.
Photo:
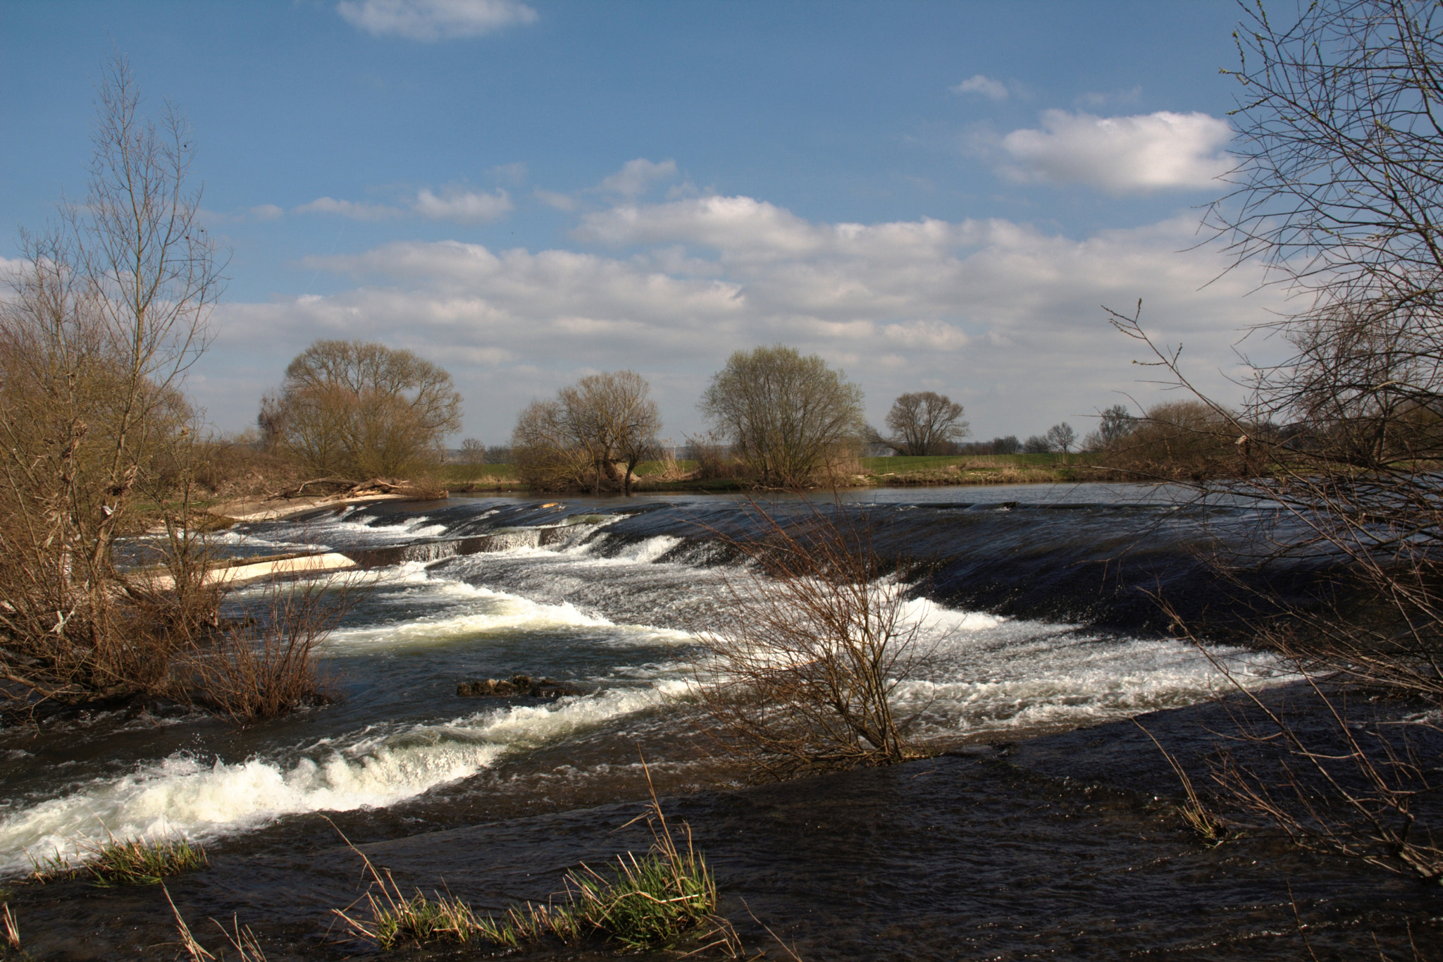
[[[342,832],[407,890],[492,910],[545,900],[580,861],[645,848],[638,826],[619,831],[646,798],[645,759],[747,940],[765,948],[765,923],[805,959],[1302,958],[1294,909],[1325,952],[1439,932],[1437,886],[1266,838],[1201,845],[1126,721],[1162,712],[1154,733],[1203,753],[1198,712],[1229,691],[1166,633],[1153,596],[1216,626],[1211,650],[1234,679],[1287,685],[1268,655],[1225,640],[1229,593],[1205,562],[1258,509],[1121,485],[765,508],[844,511],[883,555],[929,562],[908,614],[937,656],[896,698],[921,711],[915,737],[937,757],[739,787],[746,773],[709,756],[678,700],[696,679],[693,632],[745,577],[719,541],[756,531],[745,499],[388,502],[218,537],[235,555],[329,550],[362,565],[323,645],[333,704],[240,730],[131,705],[0,731],[0,873],[107,835],[180,835],[211,857],[169,884],[202,942],[216,942],[203,919],[238,917],[273,962],[364,956],[330,914],[362,888]],[[1267,587],[1306,583],[1297,567]],[[582,694],[456,694],[512,674]],[[1189,705],[1203,708],[1176,711]],[[19,886],[10,901],[36,958],[175,955],[159,888]],[[453,952],[398,958],[481,955]]]

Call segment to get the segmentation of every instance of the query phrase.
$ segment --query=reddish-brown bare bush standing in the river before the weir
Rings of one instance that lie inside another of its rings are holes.
[[[915,757],[892,695],[934,650],[909,617],[908,565],[873,550],[838,505],[788,522],[753,503],[756,539],[723,538],[752,561],[698,637],[698,724],[727,754],[785,779]],[[706,674],[703,674],[703,671]]]

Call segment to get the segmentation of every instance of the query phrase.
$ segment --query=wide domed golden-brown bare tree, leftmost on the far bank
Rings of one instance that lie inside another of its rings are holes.
[[[312,470],[394,476],[434,457],[460,428],[460,394],[446,371],[410,350],[317,340],[261,401],[260,425]]]

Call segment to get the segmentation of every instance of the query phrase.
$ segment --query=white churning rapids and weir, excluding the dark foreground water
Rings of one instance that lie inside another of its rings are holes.
[[[921,712],[921,741],[1016,740],[1228,688],[1192,645],[1157,630],[1146,591],[1186,586],[1188,612],[1218,612],[1225,593],[1196,547],[1229,537],[1247,509],[1177,509],[1166,492],[1128,486],[965,493],[766,505],[778,518],[864,516],[885,557],[928,562],[908,614],[935,656],[896,691],[905,714]],[[662,790],[736,785],[743,773],[701,750],[678,698],[704,684],[693,632],[740,574],[719,537],[755,531],[755,506],[714,496],[457,499],[241,525],[216,545],[358,562],[323,648],[341,700],[244,730],[120,708],[0,731],[0,873],[107,834],[183,835],[260,865],[333,845],[322,815],[367,841],[560,818],[636,798],[639,757]],[[1245,646],[1212,656],[1255,689],[1286,681]],[[583,694],[456,694],[460,681],[518,672]],[[303,916],[290,919],[297,932]]]

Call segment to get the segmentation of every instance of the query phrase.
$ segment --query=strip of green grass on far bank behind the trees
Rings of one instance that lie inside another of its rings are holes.
[[[962,454],[942,457],[863,457],[837,479],[840,487],[945,485],[1052,485],[1115,480],[1097,454]],[[642,462],[638,492],[750,490],[746,479],[690,477],[696,462]],[[439,464],[434,477],[453,493],[531,490],[511,464]],[[830,486],[830,485],[823,485]]]

